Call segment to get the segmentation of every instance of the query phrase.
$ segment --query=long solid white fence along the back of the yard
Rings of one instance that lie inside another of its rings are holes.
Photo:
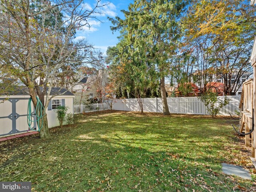
[[[232,115],[239,110],[240,96],[227,96],[230,98],[228,105],[224,106],[219,114]],[[219,100],[224,100],[224,96],[219,96]],[[170,113],[177,114],[198,114],[208,115],[208,111],[197,97],[174,97],[167,98]],[[217,103],[218,105],[218,103]],[[140,111],[137,99],[117,99],[113,104],[113,110]],[[143,102],[144,112],[163,112],[162,98],[145,98]]]

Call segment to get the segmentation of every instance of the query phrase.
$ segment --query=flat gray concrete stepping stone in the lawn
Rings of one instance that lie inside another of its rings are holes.
[[[222,163],[222,172],[227,175],[235,175],[243,179],[252,180],[250,172],[241,166]]]

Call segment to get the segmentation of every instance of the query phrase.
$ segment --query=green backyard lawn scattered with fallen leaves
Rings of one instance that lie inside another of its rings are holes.
[[[253,190],[254,180],[221,172],[221,162],[251,165],[235,120],[132,112],[76,119],[51,129],[49,140],[1,142],[0,181],[31,181],[37,192]]]

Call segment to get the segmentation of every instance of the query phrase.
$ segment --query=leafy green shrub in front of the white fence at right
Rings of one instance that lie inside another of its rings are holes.
[[[230,101],[230,99],[225,96],[224,101],[220,101],[217,106],[216,103],[218,102],[218,93],[214,93],[211,91],[202,94],[198,98],[200,99],[201,102],[204,103],[208,110],[208,113],[214,118],[220,112],[221,108],[226,106]]]

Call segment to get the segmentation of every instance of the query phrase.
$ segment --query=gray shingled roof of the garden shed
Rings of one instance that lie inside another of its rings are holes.
[[[41,87],[40,87],[41,88]],[[48,88],[47,88],[48,90]],[[29,95],[29,90],[27,86],[16,86],[14,90],[9,92],[10,95]],[[64,96],[74,96],[70,91],[65,88],[52,87],[50,95],[64,95]]]

